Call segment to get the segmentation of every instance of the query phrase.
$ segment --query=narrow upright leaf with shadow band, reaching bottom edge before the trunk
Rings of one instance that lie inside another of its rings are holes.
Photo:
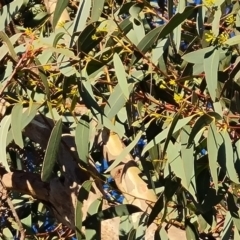
[[[82,218],[83,218],[83,202],[88,199],[89,192],[92,187],[92,181],[87,180],[83,183],[78,193],[78,200],[75,209],[75,226],[76,226],[76,237],[77,240],[82,239]]]

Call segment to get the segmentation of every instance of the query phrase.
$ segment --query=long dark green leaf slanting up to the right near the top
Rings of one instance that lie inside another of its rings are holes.
[[[131,65],[141,59],[142,54],[149,51],[152,45],[158,40],[165,38],[178,25],[180,25],[190,14],[195,10],[195,7],[188,6],[182,13],[175,14],[170,21],[164,26],[156,27],[150,31],[137,45],[138,52],[135,52],[131,59]],[[141,54],[139,54],[141,52]]]

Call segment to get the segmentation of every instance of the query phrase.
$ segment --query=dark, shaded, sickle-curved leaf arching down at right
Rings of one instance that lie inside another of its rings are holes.
[[[208,112],[207,114],[202,115],[198,118],[198,120],[193,125],[192,131],[189,135],[188,147],[191,147],[194,143],[194,139],[197,136],[198,132],[200,132],[204,127],[208,126],[214,118],[216,120],[221,120],[221,116],[215,112]]]

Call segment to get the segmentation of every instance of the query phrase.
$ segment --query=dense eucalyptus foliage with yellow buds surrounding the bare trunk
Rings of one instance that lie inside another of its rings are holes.
[[[150,210],[138,206],[145,225],[120,224],[120,239],[140,239],[153,222],[156,239],[168,239],[171,225],[189,240],[240,239],[239,1],[59,0],[50,15],[46,2],[0,1],[2,167],[61,179],[57,154],[67,129],[79,169],[100,179],[115,207],[97,215],[101,221],[136,212],[109,175],[127,156],[157,199],[141,196],[151,202]],[[24,134],[39,115],[55,123],[46,149]],[[114,161],[98,140],[103,129],[126,145],[116,144]],[[83,183],[87,195],[91,181]],[[75,236],[46,202],[17,190],[0,201],[3,239],[24,231],[26,239]],[[81,214],[75,224],[84,225]],[[86,239],[97,239],[91,234]],[[85,239],[78,231],[77,238]]]

